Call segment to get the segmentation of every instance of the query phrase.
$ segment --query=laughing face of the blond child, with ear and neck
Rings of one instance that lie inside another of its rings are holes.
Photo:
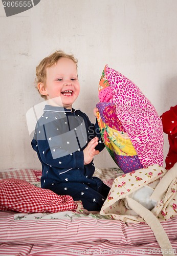
[[[72,109],[80,92],[76,63],[70,58],[60,58],[47,68],[46,83],[38,83],[37,87],[51,105]]]

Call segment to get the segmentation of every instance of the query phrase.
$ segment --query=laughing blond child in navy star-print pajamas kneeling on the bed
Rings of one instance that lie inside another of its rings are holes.
[[[47,102],[32,140],[42,164],[41,187],[81,200],[89,211],[100,211],[110,188],[93,177],[93,158],[104,144],[97,122],[94,125],[86,114],[73,109],[80,91],[77,60],[54,52],[36,67],[36,81]]]

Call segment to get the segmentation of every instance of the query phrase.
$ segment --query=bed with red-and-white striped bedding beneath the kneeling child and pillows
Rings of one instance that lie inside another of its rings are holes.
[[[96,168],[95,176],[112,186],[119,168]],[[0,179],[25,180],[40,187],[41,170],[7,169]],[[1,195],[1,194],[0,194]],[[177,217],[162,223],[177,251]],[[99,212],[78,209],[55,213],[0,211],[0,255],[162,255],[145,223],[124,223]]]

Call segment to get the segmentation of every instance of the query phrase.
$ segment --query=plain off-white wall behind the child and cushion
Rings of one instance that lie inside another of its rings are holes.
[[[105,64],[134,81],[159,115],[175,105],[176,10],[176,0],[41,0],[6,17],[0,3],[0,169],[41,167],[26,112],[42,101],[34,87],[35,67],[57,49],[79,60],[81,93],[74,107],[92,121]],[[165,136],[165,156],[167,151]],[[116,166],[106,150],[95,157],[95,165]]]

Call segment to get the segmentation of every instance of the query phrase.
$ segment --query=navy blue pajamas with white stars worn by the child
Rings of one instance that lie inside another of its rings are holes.
[[[97,122],[91,123],[80,110],[46,105],[31,142],[42,164],[41,187],[81,200],[90,211],[101,209],[110,189],[93,177],[93,161],[84,165],[83,150],[95,136],[99,138],[96,150],[102,151]]]

